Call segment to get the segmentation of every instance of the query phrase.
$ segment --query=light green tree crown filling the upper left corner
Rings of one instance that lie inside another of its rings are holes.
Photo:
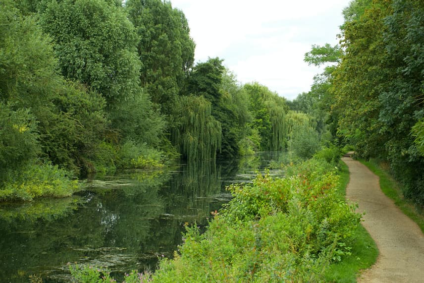
[[[15,108],[41,109],[61,81],[50,39],[13,1],[0,5],[0,99]]]

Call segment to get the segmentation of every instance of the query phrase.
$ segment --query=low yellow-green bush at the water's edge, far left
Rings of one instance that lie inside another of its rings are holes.
[[[28,165],[20,171],[9,171],[1,185],[0,200],[30,201],[39,197],[64,197],[82,189],[72,175],[50,163]]]

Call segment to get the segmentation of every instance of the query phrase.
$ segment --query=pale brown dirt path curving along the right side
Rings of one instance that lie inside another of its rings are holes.
[[[404,215],[380,190],[378,176],[350,157],[346,197],[358,202],[358,212],[366,212],[364,227],[377,244],[377,262],[365,270],[358,282],[424,282],[424,235],[416,223]]]

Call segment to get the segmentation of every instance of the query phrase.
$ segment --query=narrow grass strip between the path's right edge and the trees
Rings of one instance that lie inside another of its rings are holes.
[[[375,160],[359,161],[367,166],[374,174],[380,177],[381,191],[390,199],[392,199],[395,205],[398,206],[406,216],[417,223],[424,233],[424,216],[417,211],[412,203],[409,203],[403,198],[401,185],[390,175],[387,170],[382,169]]]

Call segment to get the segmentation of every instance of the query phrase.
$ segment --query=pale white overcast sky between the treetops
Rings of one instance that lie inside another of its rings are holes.
[[[350,0],[171,0],[188,19],[195,60],[224,59],[242,83],[257,81],[289,100],[321,72],[303,61],[311,45],[338,43]]]

